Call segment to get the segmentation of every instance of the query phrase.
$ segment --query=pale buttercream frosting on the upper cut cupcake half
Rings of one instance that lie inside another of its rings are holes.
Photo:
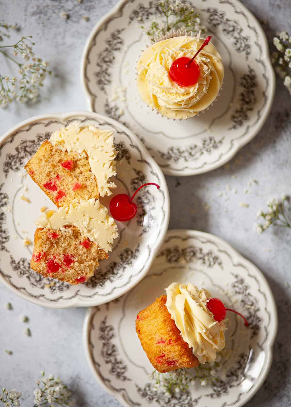
[[[62,151],[74,151],[88,157],[92,173],[95,175],[101,197],[111,195],[110,188],[116,188],[114,182],[108,182],[116,175],[114,130],[97,129],[93,125],[82,126],[71,123],[67,127],[52,133],[50,142]]]

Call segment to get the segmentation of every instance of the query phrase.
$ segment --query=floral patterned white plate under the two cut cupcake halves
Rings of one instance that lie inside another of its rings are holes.
[[[129,222],[117,222],[119,238],[107,260],[100,262],[95,276],[84,284],[44,278],[29,267],[34,221],[40,208],[53,203],[23,169],[51,132],[74,121],[115,129],[117,189],[100,198],[109,207],[112,196],[131,194],[150,181],[161,186],[142,188],[137,197],[138,212]],[[23,200],[25,199],[25,200]],[[29,199],[30,203],[27,201]],[[96,113],[74,112],[37,116],[20,123],[0,142],[0,281],[20,297],[50,308],[104,304],[134,287],[147,273],[168,229],[170,201],[168,187],[159,166],[131,131],[115,120]]]

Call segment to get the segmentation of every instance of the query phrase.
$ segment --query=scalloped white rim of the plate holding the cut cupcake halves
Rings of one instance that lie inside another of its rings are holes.
[[[161,168],[159,167],[159,165],[154,161],[154,159],[150,156],[150,153],[148,152],[148,150],[146,149],[146,147],[143,145],[143,143],[141,142],[141,140],[135,136],[134,133],[132,133],[132,131],[130,129],[128,129],[126,126],[122,125],[121,123],[117,122],[116,120],[104,116],[103,114],[99,114],[99,113],[95,113],[95,112],[87,112],[87,111],[74,111],[74,112],[67,112],[67,113],[52,113],[52,114],[41,114],[41,115],[37,115],[37,116],[33,116],[29,119],[23,120],[22,122],[18,123],[18,125],[13,126],[11,129],[9,129],[8,131],[6,131],[2,136],[0,136],[0,145],[2,145],[5,140],[7,138],[9,138],[9,136],[11,136],[12,133],[15,133],[15,131],[18,131],[19,129],[21,129],[22,127],[29,125],[33,122],[37,122],[37,121],[41,121],[41,120],[46,120],[46,119],[59,119],[59,120],[65,120],[68,118],[71,118],[73,116],[93,116],[93,118],[98,118],[98,119],[105,119],[108,123],[112,123],[113,125],[118,125],[118,127],[120,127],[125,133],[127,133],[130,137],[132,137],[134,139],[134,141],[136,142],[137,146],[139,147],[139,149],[141,149],[141,151],[143,152],[144,155],[146,155],[147,160],[152,161],[154,164],[157,165],[157,170],[159,171],[159,176],[161,177],[161,180],[163,180],[164,184],[165,184],[165,220],[164,220],[164,227],[163,230],[161,232],[161,235],[159,237],[159,241],[157,243],[157,245],[155,247],[152,248],[151,254],[150,254],[150,260],[148,263],[148,266],[145,267],[145,270],[139,274],[139,276],[137,277],[137,280],[134,281],[134,284],[129,283],[127,284],[124,288],[124,292],[120,293],[120,294],[113,294],[110,295],[110,300],[107,300],[104,302],[99,302],[96,301],[97,298],[91,298],[87,300],[84,300],[83,298],[72,298],[71,300],[68,300],[67,302],[64,302],[62,305],[58,304],[58,302],[46,302],[43,303],[41,302],[38,298],[33,298],[30,295],[27,295],[25,292],[22,292],[18,289],[15,289],[9,281],[7,281],[5,278],[3,278],[0,275],[0,282],[7,287],[10,291],[12,291],[14,294],[18,295],[18,297],[23,298],[26,301],[29,301],[35,305],[40,305],[43,306],[45,308],[52,308],[52,309],[65,309],[65,308],[73,308],[73,307],[92,307],[92,306],[96,306],[96,305],[102,305],[105,304],[106,302],[112,301],[115,298],[120,297],[121,295],[125,294],[126,292],[128,292],[130,289],[132,289],[136,284],[138,284],[144,276],[146,276],[146,274],[148,273],[156,255],[157,252],[159,251],[159,248],[161,247],[161,245],[163,244],[163,241],[165,239],[165,235],[167,233],[168,230],[168,225],[169,225],[169,220],[170,220],[170,196],[169,196],[169,190],[168,190],[168,184],[165,180],[165,176],[163,174],[163,172],[161,171]],[[105,297],[104,297],[105,298]],[[85,301],[85,303],[84,303]]]

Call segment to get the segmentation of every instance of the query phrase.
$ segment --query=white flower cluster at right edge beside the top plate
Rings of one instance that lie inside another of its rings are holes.
[[[284,85],[291,94],[291,37],[286,31],[281,31],[273,38],[273,44],[278,50],[271,57],[275,71],[284,79]]]

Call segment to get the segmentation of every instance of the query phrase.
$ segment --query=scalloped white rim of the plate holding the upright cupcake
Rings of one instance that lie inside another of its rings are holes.
[[[94,38],[96,32],[98,31],[98,29],[110,18],[111,15],[117,13],[122,7],[123,5],[127,2],[128,0],[119,0],[119,2],[112,8],[110,9],[102,18],[101,20],[99,20],[99,22],[97,22],[95,24],[95,26],[93,27],[92,31],[90,32],[89,37],[86,40],[85,46],[84,46],[84,50],[82,53],[82,59],[81,59],[81,65],[80,65],[80,75],[81,75],[81,84],[82,84],[82,88],[85,92],[85,96],[86,96],[86,101],[87,101],[87,105],[90,109],[90,112],[93,112],[93,103],[94,103],[94,97],[90,94],[88,87],[87,87],[87,82],[86,82],[86,74],[85,74],[85,70],[86,70],[86,56],[89,50],[89,45],[92,41],[92,39]],[[255,129],[251,132],[248,132],[245,135],[245,138],[243,139],[242,142],[240,142],[238,145],[234,146],[228,153],[225,153],[223,155],[223,158],[221,158],[220,160],[218,160],[217,162],[215,162],[214,164],[210,164],[207,168],[203,169],[202,168],[198,168],[198,169],[192,169],[192,168],[181,168],[181,170],[178,169],[172,169],[169,167],[161,167],[161,170],[163,171],[163,173],[165,175],[172,175],[173,177],[176,176],[181,176],[181,177],[188,177],[191,175],[199,175],[199,174],[204,174],[207,173],[209,171],[213,171],[216,170],[217,168],[223,166],[224,164],[226,164],[227,162],[229,162],[232,158],[234,158],[234,156],[238,153],[238,151],[240,151],[240,149],[242,149],[242,147],[245,147],[246,144],[248,144],[251,140],[253,140],[256,135],[258,134],[258,132],[262,129],[263,125],[265,124],[269,113],[271,111],[271,107],[273,105],[273,100],[274,100],[274,96],[275,96],[275,90],[276,90],[276,77],[275,77],[275,72],[273,70],[273,66],[271,63],[271,58],[270,58],[270,52],[269,52],[269,46],[268,46],[268,42],[267,42],[267,37],[266,34],[264,33],[262,27],[260,26],[260,23],[258,22],[257,18],[254,16],[253,13],[251,13],[251,11],[249,11],[249,9],[247,9],[247,7],[242,4],[239,0],[232,0],[235,4],[239,5],[239,7],[242,8],[242,10],[244,11],[244,13],[248,16],[248,18],[254,18],[254,20],[257,22],[258,26],[256,27],[260,33],[260,35],[262,35],[262,40],[264,42],[264,47],[262,48],[262,58],[265,59],[266,62],[266,68],[269,71],[269,87],[270,87],[270,98],[269,98],[269,104],[267,107],[267,110],[265,112],[265,116],[262,117],[259,125],[257,127],[255,127]]]

